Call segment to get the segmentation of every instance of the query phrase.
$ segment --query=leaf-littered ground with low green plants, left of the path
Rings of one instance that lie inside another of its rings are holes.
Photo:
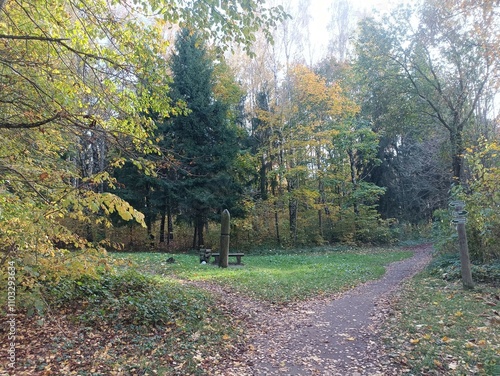
[[[168,278],[123,270],[42,291],[43,316],[16,316],[17,376],[205,375],[241,341],[228,307]]]

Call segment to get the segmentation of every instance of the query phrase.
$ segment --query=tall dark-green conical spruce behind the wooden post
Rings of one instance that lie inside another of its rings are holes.
[[[214,97],[214,64],[203,41],[184,29],[175,50],[172,95],[184,101],[189,112],[164,124],[162,146],[178,161],[168,186],[181,216],[194,225],[193,247],[197,247],[204,244],[208,221],[225,208],[231,210],[238,199],[239,188],[231,174],[238,142],[227,106]]]

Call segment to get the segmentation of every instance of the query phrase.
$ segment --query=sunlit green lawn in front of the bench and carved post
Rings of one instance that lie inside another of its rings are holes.
[[[384,266],[411,256],[411,252],[391,250],[307,252],[277,255],[248,255],[243,266],[221,269],[200,265],[197,255],[157,253],[115,254],[130,260],[138,270],[163,277],[191,281],[212,281],[230,286],[252,298],[287,304],[324,294],[345,291],[360,283],[381,277]]]

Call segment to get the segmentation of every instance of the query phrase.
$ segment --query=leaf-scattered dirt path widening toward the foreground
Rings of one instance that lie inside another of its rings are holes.
[[[334,299],[279,309],[234,296],[235,309],[252,328],[246,341],[250,345],[215,374],[398,375],[378,332],[390,314],[393,293],[430,261],[432,246],[412,251],[412,258],[390,264],[383,278]]]

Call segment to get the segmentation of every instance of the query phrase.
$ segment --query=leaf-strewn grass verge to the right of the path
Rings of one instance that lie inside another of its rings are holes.
[[[391,356],[411,375],[500,375],[500,297],[426,272],[407,283],[386,328]]]

